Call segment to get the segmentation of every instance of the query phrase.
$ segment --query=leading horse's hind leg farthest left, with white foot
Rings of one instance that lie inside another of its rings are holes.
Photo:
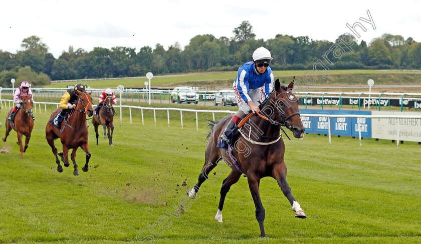
[[[205,152],[205,163],[202,167],[202,170],[198,176],[197,179],[197,183],[192,186],[189,190],[187,190],[187,195],[190,198],[196,198],[196,194],[197,191],[200,188],[200,185],[206,180],[209,179],[210,181],[215,181],[219,178],[219,176],[217,178],[211,178],[209,177],[209,172],[212,171],[212,169],[214,169],[217,165],[218,162],[220,161],[220,156],[218,154],[219,148],[218,147],[213,147],[212,149],[209,149],[209,153],[207,151],[208,148],[206,148],[206,152]]]

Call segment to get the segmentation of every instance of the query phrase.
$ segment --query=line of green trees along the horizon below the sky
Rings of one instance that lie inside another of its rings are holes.
[[[231,38],[216,38],[213,34],[192,37],[182,48],[178,42],[169,46],[157,43],[154,48],[116,46],[111,49],[94,47],[92,51],[69,46],[55,58],[39,36],[22,40],[22,50],[11,53],[0,49],[0,86],[10,86],[11,78],[29,80],[33,85],[49,84],[51,80],[132,77],[195,71],[233,71],[251,61],[253,51],[267,47],[274,57],[274,70],[312,69],[313,63],[340,43],[341,36],[331,42],[309,36],[277,34],[274,38],[256,39],[249,21],[233,30]],[[412,37],[382,34],[367,44],[361,40],[352,45],[353,51],[343,53],[331,69],[390,69],[420,68],[421,43]],[[332,55],[332,54],[330,54]]]

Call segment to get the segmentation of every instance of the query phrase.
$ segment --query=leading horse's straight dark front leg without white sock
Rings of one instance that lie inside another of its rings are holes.
[[[253,201],[256,207],[256,219],[259,222],[260,235],[265,237],[265,227],[263,222],[265,221],[265,208],[263,207],[262,200],[260,199],[260,178],[254,172],[247,172],[247,179],[249,181],[250,192],[253,196]]]

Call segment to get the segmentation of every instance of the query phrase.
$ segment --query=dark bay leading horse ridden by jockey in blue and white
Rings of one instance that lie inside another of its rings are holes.
[[[221,187],[221,198],[218,206],[218,212],[215,219],[222,222],[222,209],[225,197],[230,190],[231,185],[236,183],[240,176],[247,174],[250,191],[256,206],[256,218],[259,222],[261,236],[264,237],[264,219],[265,208],[260,198],[259,185],[260,179],[271,176],[276,179],[284,195],[288,198],[295,211],[295,216],[305,218],[306,214],[301,209],[300,204],[295,200],[291,193],[291,187],[288,185],[287,166],[284,161],[285,144],[280,130],[282,126],[290,129],[294,137],[302,138],[304,136],[304,126],[301,122],[298,110],[298,99],[291,91],[294,86],[294,80],[288,87],[280,84],[279,79],[275,81],[275,87],[267,99],[260,105],[262,116],[253,114],[250,119],[239,130],[238,140],[229,150],[217,147],[221,134],[224,132],[232,115],[221,118],[216,123],[211,121],[212,128],[209,132],[209,141],[205,150],[205,163],[199,174],[198,182],[187,191],[190,198],[195,198],[200,185],[209,178],[209,172],[217,166],[221,159],[231,167],[231,172],[224,179]],[[288,136],[288,135],[287,135]]]

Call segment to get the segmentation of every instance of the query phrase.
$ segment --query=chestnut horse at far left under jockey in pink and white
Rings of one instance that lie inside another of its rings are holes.
[[[18,133],[18,141],[16,143],[21,147],[21,157],[23,159],[24,152],[28,148],[28,143],[31,139],[32,129],[34,128],[34,119],[32,118],[32,95],[24,95],[22,97],[22,102],[21,108],[15,114],[15,122],[12,123],[9,119],[6,119],[6,135],[3,137],[3,141],[6,141],[12,128],[16,130]],[[12,109],[9,110],[8,117],[12,113]],[[22,135],[25,135],[25,147],[22,144]]]

